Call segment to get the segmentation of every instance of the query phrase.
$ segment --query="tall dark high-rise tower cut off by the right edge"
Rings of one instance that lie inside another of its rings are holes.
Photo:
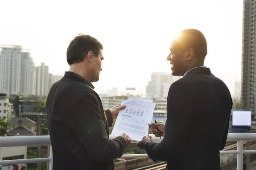
[[[241,103],[256,114],[256,1],[243,2],[243,38],[241,68]]]

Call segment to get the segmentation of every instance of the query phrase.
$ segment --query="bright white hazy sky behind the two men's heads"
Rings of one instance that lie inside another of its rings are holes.
[[[145,94],[152,72],[171,73],[169,46],[186,28],[203,32],[205,65],[232,94],[241,79],[242,0],[5,0],[0,6],[0,44],[30,49],[35,65],[45,62],[55,75],[69,70],[66,50],[77,34],[102,42],[96,91],[135,87]]]

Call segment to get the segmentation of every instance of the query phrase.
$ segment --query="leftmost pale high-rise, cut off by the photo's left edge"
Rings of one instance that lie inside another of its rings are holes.
[[[20,66],[22,46],[0,46],[0,93],[20,93]]]

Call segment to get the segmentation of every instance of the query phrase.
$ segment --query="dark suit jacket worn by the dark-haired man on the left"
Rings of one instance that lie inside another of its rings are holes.
[[[111,113],[105,115],[98,94],[86,83],[66,72],[47,97],[53,170],[113,170],[113,159],[125,150],[122,137],[108,139]]]

